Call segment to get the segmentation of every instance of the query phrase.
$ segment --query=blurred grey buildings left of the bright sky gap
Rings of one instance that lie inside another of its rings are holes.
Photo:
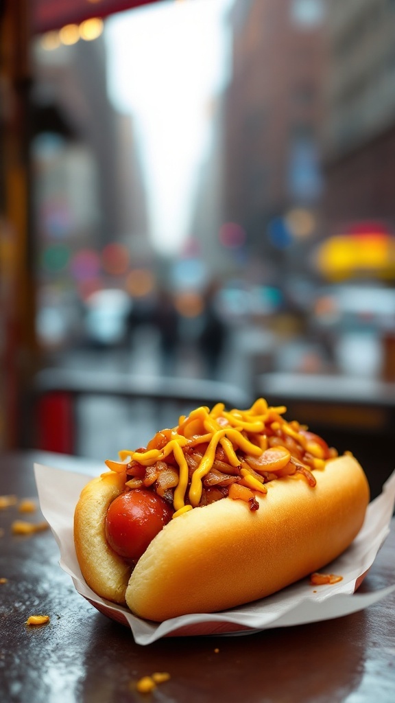
[[[47,348],[83,340],[86,297],[127,287],[129,266],[149,257],[134,121],[110,101],[103,25],[89,41],[76,28],[37,37],[32,52],[36,327]]]

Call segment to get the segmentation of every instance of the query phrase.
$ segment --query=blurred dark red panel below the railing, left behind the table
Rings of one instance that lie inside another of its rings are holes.
[[[75,452],[73,399],[69,393],[43,396],[37,408],[37,448],[60,454]]]

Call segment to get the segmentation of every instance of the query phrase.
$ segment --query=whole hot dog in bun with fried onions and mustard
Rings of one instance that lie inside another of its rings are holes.
[[[368,481],[258,399],[196,408],[147,447],[119,452],[75,509],[86,583],[163,621],[264,598],[341,554],[363,524]]]

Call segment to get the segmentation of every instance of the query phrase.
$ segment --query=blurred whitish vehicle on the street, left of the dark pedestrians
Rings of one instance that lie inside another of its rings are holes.
[[[89,295],[85,301],[86,342],[93,347],[124,344],[132,307],[127,292],[117,288],[98,290]]]

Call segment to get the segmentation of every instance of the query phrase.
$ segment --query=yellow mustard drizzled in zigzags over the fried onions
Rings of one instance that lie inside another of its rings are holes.
[[[120,463],[110,460],[105,463],[111,470],[120,472],[125,470],[128,460],[134,460],[146,467],[163,460],[173,453],[174,459],[179,465],[179,483],[174,489],[173,504],[175,512],[173,517],[178,517],[199,505],[203,489],[202,479],[212,468],[216,448],[219,444],[221,444],[226,453],[228,463],[233,467],[240,467],[240,474],[247,485],[254,491],[266,493],[267,488],[264,483],[259,482],[252,475],[252,472],[241,466],[236,450],[240,449],[250,456],[261,456],[261,453],[268,447],[268,440],[264,434],[265,425],[268,422],[271,423],[273,429],[277,425],[281,427],[285,434],[297,439],[304,448],[306,448],[308,440],[281,417],[286,411],[285,406],[268,407],[266,400],[259,398],[252,404],[251,408],[244,411],[233,409],[226,412],[224,408],[223,403],[217,403],[211,411],[205,406],[196,408],[188,416],[181,415],[178,427],[174,427],[171,430],[171,439],[167,441],[167,444],[162,449],[150,449],[144,452],[125,449],[119,451]],[[188,492],[189,503],[186,503],[189,470],[183,448],[207,443],[207,449],[193,472]],[[313,443],[310,442],[309,444]],[[311,449],[313,449],[312,446]],[[316,449],[314,453],[317,465],[321,465],[323,460],[321,459],[320,448]]]

